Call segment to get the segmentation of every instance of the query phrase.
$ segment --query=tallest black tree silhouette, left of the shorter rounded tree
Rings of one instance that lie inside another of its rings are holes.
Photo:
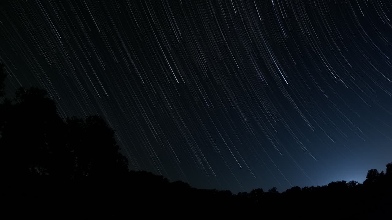
[[[0,115],[5,177],[20,182],[20,178],[50,175],[58,165],[56,152],[64,148],[64,127],[46,92],[20,88],[13,101],[0,106]]]

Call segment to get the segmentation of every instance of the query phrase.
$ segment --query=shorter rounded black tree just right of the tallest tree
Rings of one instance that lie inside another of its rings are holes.
[[[127,159],[119,153],[114,130],[99,116],[67,119],[66,145],[74,155],[76,179],[120,178],[127,173]]]

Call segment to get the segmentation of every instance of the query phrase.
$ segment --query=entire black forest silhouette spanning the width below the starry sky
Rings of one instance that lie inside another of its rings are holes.
[[[237,194],[196,189],[146,171],[129,171],[114,130],[102,117],[63,119],[54,101],[39,88],[20,88],[13,99],[7,99],[5,78],[2,65],[0,196],[3,200],[27,206],[56,203],[65,207],[59,204],[67,203],[68,211],[61,215],[73,216],[80,213],[129,216],[130,209],[133,213],[145,213],[146,207],[151,210],[171,206],[198,212],[212,211],[214,207],[220,215],[247,213],[266,218],[390,217],[392,163],[387,164],[385,173],[369,170],[363,183],[336,181],[325,186],[296,186],[281,193],[277,188]],[[87,206],[100,210],[92,212]],[[43,213],[54,212],[46,205],[42,209]]]

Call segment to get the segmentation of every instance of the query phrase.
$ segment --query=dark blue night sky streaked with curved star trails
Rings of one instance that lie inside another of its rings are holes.
[[[392,161],[392,2],[2,0],[8,96],[102,115],[132,170],[234,193]]]

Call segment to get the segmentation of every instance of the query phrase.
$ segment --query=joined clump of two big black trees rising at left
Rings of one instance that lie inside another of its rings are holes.
[[[20,88],[0,105],[0,163],[5,184],[83,180],[105,183],[127,178],[114,130],[99,116],[62,119],[38,88]]]

